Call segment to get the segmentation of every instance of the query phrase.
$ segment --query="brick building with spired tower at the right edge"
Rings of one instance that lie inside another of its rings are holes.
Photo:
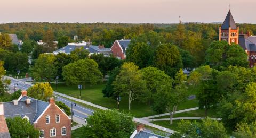
[[[256,36],[247,34],[239,34],[239,27],[233,19],[233,16],[228,11],[226,19],[219,28],[219,40],[225,40],[229,44],[239,44],[248,55],[249,66],[253,67],[256,63]]]

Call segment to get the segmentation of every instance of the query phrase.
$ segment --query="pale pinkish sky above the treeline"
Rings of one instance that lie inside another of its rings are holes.
[[[0,23],[256,23],[255,0],[0,0]]]

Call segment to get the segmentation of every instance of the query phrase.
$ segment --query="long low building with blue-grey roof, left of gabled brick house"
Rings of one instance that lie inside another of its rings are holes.
[[[104,46],[93,46],[89,45],[87,42],[82,42],[82,43],[68,43],[67,46],[62,47],[56,51],[53,51],[54,55],[57,55],[58,53],[65,53],[65,54],[70,54],[71,51],[74,51],[75,49],[83,47],[84,50],[88,50],[90,55],[92,54],[103,54],[104,56],[110,56],[111,55],[111,50],[110,48],[105,48]]]

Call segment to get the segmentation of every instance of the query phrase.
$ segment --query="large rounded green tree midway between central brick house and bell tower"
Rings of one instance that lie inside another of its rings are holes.
[[[159,45],[153,57],[153,65],[173,77],[183,67],[178,47],[171,44]]]

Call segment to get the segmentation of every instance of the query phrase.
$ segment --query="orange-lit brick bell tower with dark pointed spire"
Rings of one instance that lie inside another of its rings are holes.
[[[233,16],[228,11],[228,15],[224,20],[223,24],[219,28],[219,41],[226,40],[228,44],[235,43],[238,44],[239,38],[239,27],[236,27],[236,23],[233,19]]]

